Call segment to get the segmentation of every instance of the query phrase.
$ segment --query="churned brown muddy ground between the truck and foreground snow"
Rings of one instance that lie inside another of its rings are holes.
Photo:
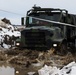
[[[76,55],[68,52],[65,55],[56,54],[54,49],[47,51],[27,50],[27,49],[9,49],[0,50],[0,62],[5,62],[16,65],[16,68],[25,70],[24,74],[28,72],[37,71],[45,64],[50,66],[57,66],[62,68],[66,64],[76,61]],[[38,75],[38,74],[35,74]]]

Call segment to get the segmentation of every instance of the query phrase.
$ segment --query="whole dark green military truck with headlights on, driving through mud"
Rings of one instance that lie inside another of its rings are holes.
[[[76,15],[65,9],[34,6],[22,17],[25,29],[17,46],[30,49],[55,48],[65,52],[76,46]]]

